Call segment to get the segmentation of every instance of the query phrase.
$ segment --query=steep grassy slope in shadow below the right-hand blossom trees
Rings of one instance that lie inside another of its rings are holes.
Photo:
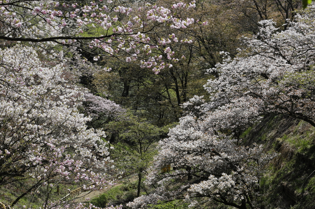
[[[261,180],[261,208],[315,208],[315,128],[288,116],[266,116],[244,134],[244,143],[276,151]]]

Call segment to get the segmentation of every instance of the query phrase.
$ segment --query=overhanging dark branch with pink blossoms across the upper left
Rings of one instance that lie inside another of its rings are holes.
[[[152,67],[158,73],[171,64],[152,51],[169,42],[189,40],[165,37],[152,44],[149,34],[194,24],[196,21],[192,18],[180,19],[174,15],[194,7],[194,1],[175,3],[170,9],[147,3],[133,12],[132,8],[112,0],[90,3],[5,0],[0,1],[0,39],[75,46],[94,55],[95,60],[100,56],[112,56],[124,62],[139,60],[142,67]],[[160,25],[163,27],[154,30]],[[167,60],[172,61],[174,52],[165,50]]]

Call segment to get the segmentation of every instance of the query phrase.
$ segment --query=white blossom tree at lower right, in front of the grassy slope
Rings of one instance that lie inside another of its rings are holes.
[[[256,208],[259,180],[274,155],[256,144],[241,146],[239,133],[257,120],[257,111],[250,102],[209,111],[209,104],[200,97],[185,105],[200,103],[170,130],[169,138],[159,142],[154,171],[146,180],[156,191],[129,206],[185,199],[191,206],[216,201],[240,209]],[[176,169],[161,172],[168,164]]]

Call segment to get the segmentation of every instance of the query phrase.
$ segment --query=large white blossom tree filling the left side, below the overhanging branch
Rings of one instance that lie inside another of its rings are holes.
[[[33,47],[16,45],[0,49],[0,60],[0,186],[26,182],[4,203],[21,207],[23,198],[27,208],[64,208],[72,198],[59,199],[68,189],[112,184],[104,132],[87,129],[92,118],[78,110],[92,96],[67,82],[66,59],[51,67]]]

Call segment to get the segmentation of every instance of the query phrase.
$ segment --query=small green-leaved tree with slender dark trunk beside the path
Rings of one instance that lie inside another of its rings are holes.
[[[128,111],[118,117],[117,121],[108,123],[107,128],[115,131],[121,138],[121,142],[115,145],[112,158],[117,162],[118,168],[126,172],[136,172],[137,196],[140,196],[142,179],[148,174],[147,169],[156,154],[155,143],[160,140],[160,135],[165,134],[167,128],[154,126]]]

